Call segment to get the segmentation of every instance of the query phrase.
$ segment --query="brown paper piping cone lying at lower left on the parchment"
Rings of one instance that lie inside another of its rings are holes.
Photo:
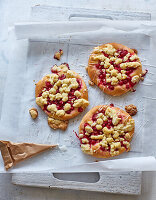
[[[13,143],[10,141],[2,140],[0,141],[0,150],[6,170],[27,158],[31,158],[56,146],[57,145]]]

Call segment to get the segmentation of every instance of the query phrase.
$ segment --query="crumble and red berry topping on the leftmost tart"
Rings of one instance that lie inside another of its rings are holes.
[[[36,98],[36,103],[52,115],[62,117],[75,108],[82,112],[89,102],[81,98],[81,80],[75,78],[66,63],[54,65],[52,74],[46,76],[46,86]]]

